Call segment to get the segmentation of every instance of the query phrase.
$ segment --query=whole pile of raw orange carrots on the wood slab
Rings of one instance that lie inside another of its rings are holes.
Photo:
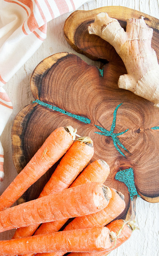
[[[89,137],[74,141],[76,131],[67,126],[52,132],[0,196],[0,232],[16,228],[12,240],[0,241],[0,256],[102,256],[131,236],[134,223],[111,222],[125,202],[120,192],[103,184],[108,164],[99,159],[87,166],[93,142]],[[61,157],[38,199],[9,208]],[[59,231],[72,217],[76,218]]]

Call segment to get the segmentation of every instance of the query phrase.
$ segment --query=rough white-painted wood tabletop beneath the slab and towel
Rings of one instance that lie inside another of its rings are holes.
[[[80,1],[80,0],[79,0]],[[82,5],[79,9],[89,10],[101,6],[120,5],[126,6],[147,13],[151,16],[159,18],[159,1],[158,0],[94,0]],[[12,147],[10,132],[13,120],[16,114],[24,108],[25,105],[33,101],[33,95],[30,90],[30,76],[36,65],[57,52],[69,51],[77,54],[66,42],[63,36],[63,25],[70,13],[64,14],[48,23],[47,39],[35,54],[25,63],[25,65],[13,76],[5,85],[13,103],[13,114],[9,119],[5,130],[1,136],[2,145],[4,147],[4,171],[5,178],[0,186],[0,194],[10,184],[17,175],[16,169],[12,161]],[[77,54],[89,64],[97,64],[87,57]],[[16,56],[15,56],[16,58]],[[158,256],[159,255],[159,221],[158,221],[159,204],[150,204],[141,198],[136,201],[136,222],[140,227],[135,230],[131,238],[126,241],[118,249],[111,252],[110,256]],[[10,239],[14,230],[3,232],[0,234],[0,240]]]

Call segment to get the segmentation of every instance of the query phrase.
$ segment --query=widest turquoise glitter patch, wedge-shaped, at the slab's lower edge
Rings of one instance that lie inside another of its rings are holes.
[[[125,183],[125,185],[128,187],[131,200],[133,200],[133,197],[135,195],[140,197],[139,194],[137,193],[137,190],[136,190],[136,187],[135,187],[134,173],[133,173],[132,168],[119,171],[118,173],[116,173],[115,179]]]

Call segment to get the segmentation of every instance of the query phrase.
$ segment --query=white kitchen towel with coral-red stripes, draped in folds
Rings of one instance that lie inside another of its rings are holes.
[[[12,114],[3,86],[46,38],[47,22],[88,0],[0,0],[0,136]],[[0,181],[4,152],[0,142]]]

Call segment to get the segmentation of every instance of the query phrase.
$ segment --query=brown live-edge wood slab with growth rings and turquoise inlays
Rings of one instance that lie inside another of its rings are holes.
[[[77,52],[102,61],[103,66],[88,65],[68,52],[38,64],[30,82],[35,102],[22,109],[13,123],[13,161],[19,173],[58,126],[77,128],[79,135],[93,140],[91,162],[103,159],[109,164],[105,184],[124,194],[126,208],[119,218],[128,219],[135,214],[136,197],[132,205],[130,199],[134,184],[136,194],[144,200],[159,201],[159,110],[153,103],[118,88],[119,76],[126,73],[122,60],[112,46],[87,32],[100,12],[117,18],[124,28],[126,19],[144,16],[154,29],[152,48],[159,57],[158,19],[119,6],[72,13],[64,26],[66,40]],[[57,164],[26,191],[18,204],[39,196]],[[125,169],[130,171],[122,173]]]

